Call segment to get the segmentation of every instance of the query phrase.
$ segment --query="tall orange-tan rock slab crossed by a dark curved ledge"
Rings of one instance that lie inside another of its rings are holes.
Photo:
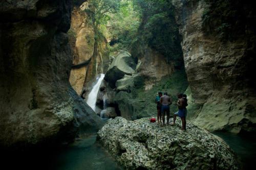
[[[86,6],[84,3],[83,6]],[[70,74],[70,84],[81,95],[86,72],[94,52],[94,29],[88,24],[88,16],[79,7],[74,7],[71,15],[69,39],[73,52],[73,69]]]

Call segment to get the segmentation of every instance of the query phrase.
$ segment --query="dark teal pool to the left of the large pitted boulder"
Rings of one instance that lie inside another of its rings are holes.
[[[65,148],[1,152],[1,169],[121,170],[100,144],[96,135],[80,139]],[[3,168],[6,167],[6,168]]]

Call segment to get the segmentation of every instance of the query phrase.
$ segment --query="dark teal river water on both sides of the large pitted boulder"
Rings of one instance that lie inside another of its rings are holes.
[[[230,133],[215,132],[237,153],[243,169],[255,169],[255,139],[248,139]],[[26,152],[1,152],[1,169],[53,169],[53,170],[121,170],[114,159],[100,144],[96,135],[75,141],[65,148],[33,149]]]

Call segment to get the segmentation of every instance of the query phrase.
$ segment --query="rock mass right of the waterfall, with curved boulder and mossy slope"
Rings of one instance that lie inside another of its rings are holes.
[[[176,94],[184,92],[188,85],[184,67],[175,69],[173,62],[166,63],[160,53],[144,48],[137,56],[122,51],[115,57],[97,100],[102,109],[106,98],[108,106],[116,107],[117,115],[132,120],[156,116],[157,92],[167,91],[176,100]],[[172,105],[171,110],[177,107]]]

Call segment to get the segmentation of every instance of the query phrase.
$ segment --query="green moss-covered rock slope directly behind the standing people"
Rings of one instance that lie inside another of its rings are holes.
[[[148,116],[156,116],[155,97],[159,91],[167,91],[172,96],[173,105],[170,106],[171,114],[177,111],[174,102],[177,101],[176,95],[183,93],[187,86],[185,71],[177,70],[170,77],[163,77],[160,81],[148,90],[144,89],[146,77],[134,76],[135,88],[131,93],[120,91],[115,96],[115,103],[118,105],[122,117],[127,119],[138,119]]]

